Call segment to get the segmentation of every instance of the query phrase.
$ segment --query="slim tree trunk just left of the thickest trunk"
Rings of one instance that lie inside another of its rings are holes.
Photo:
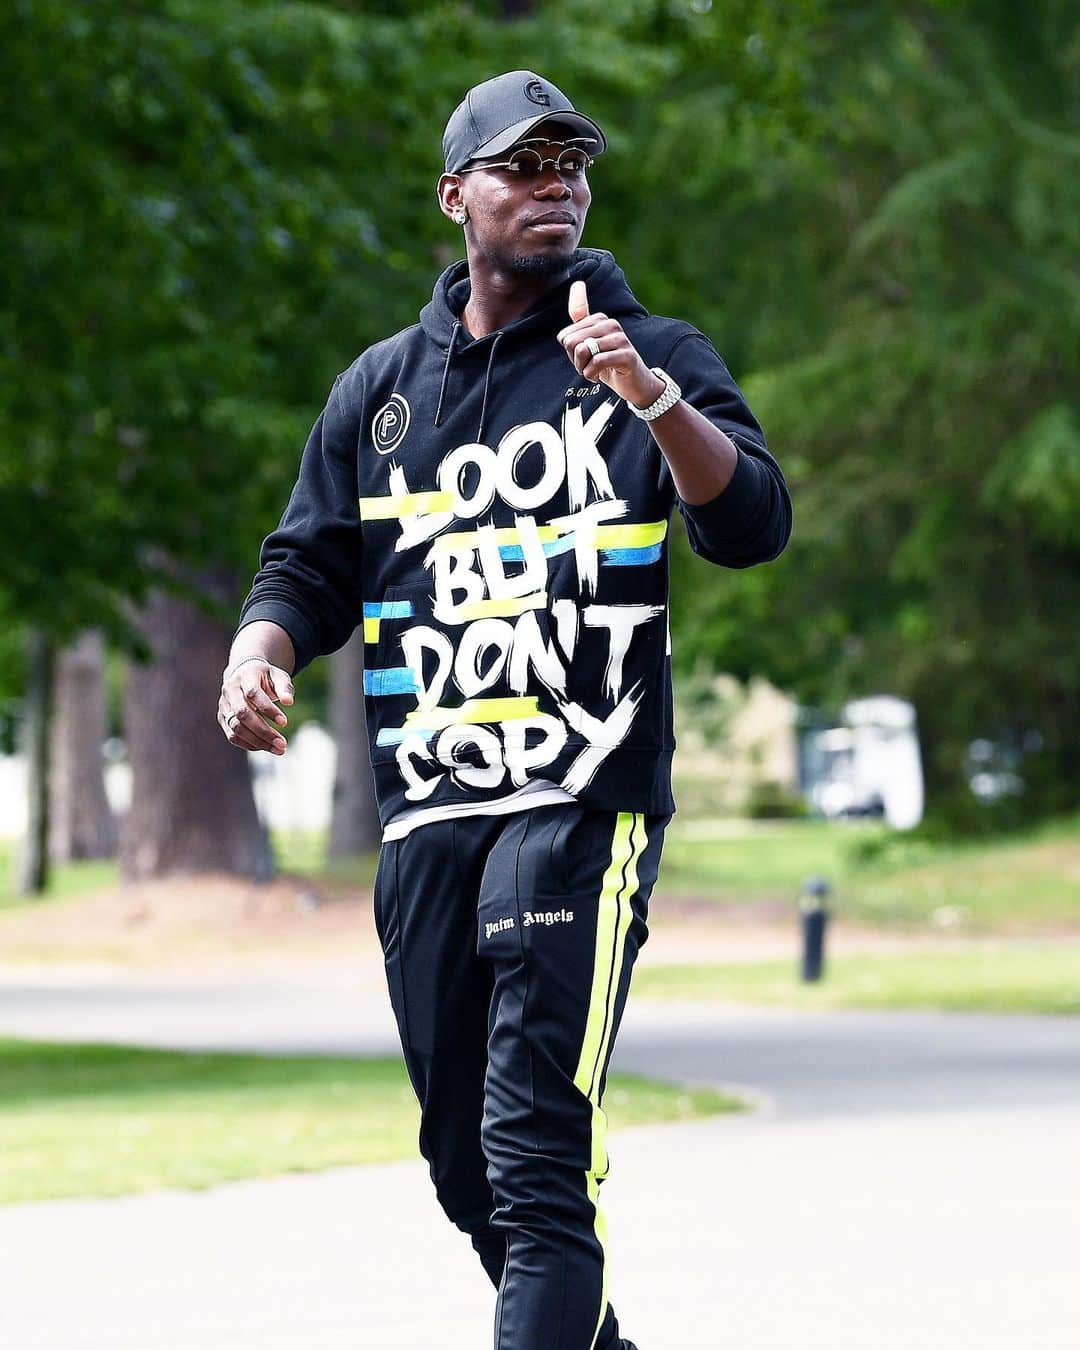
[[[49,780],[54,861],[116,853],[101,759],[105,734],[105,643],[97,629],[86,629],[57,659]]]

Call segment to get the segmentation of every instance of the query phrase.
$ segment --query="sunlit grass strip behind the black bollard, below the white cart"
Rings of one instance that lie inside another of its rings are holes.
[[[1080,817],[992,841],[932,844],[876,824],[676,815],[659,890],[794,905],[814,873],[829,879],[834,909],[880,927],[1080,932]]]

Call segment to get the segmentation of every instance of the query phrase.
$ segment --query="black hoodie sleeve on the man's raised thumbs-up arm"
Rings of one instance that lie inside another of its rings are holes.
[[[683,398],[738,450],[728,486],[706,502],[686,502],[660,454],[662,489],[670,487],[691,549],[721,567],[753,567],[778,558],[791,537],[791,495],[780,466],[724,359],[705,333],[684,333],[663,363]]]

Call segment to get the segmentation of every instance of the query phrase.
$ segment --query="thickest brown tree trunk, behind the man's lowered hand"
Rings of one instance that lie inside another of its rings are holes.
[[[196,579],[207,594],[235,595],[232,575],[221,570]],[[231,628],[161,590],[138,622],[154,659],[134,662],[127,684],[132,783],[123,875],[224,871],[262,880],[271,860],[251,788],[248,757],[256,752],[230,745],[217,724]]]

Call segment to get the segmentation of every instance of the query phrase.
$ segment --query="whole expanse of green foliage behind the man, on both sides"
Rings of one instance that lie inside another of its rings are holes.
[[[973,736],[1023,749],[1013,810],[1073,803],[1079,32],[1064,0],[552,0],[514,22],[18,0],[3,629],[135,647],[128,602],[176,585],[162,559],[251,575],[333,375],[462,255],[435,201],[450,109],[539,66],[609,131],[583,242],[710,333],[792,485],[776,563],[703,585],[676,549],[676,663],[822,706],[913,698],[932,803],[969,805]]]

